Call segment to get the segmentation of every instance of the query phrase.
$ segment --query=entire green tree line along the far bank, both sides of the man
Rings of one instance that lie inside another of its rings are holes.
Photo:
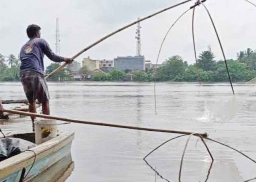
[[[45,74],[49,74],[59,63],[52,63],[46,67]],[[0,54],[0,81],[19,80],[20,60],[14,55],[3,56]],[[227,66],[233,82],[246,82],[256,77],[256,51],[247,48],[237,52],[237,59],[228,59]],[[87,67],[81,68],[80,74],[88,75],[91,72]],[[51,80],[72,80],[69,69],[65,68],[53,75]],[[174,55],[165,60],[161,66],[150,68],[147,71],[120,71],[111,70],[106,73],[92,74],[92,81],[140,81],[157,82],[227,82],[228,75],[223,60],[216,61],[214,53],[209,49],[199,54],[197,64],[188,65],[181,56]]]

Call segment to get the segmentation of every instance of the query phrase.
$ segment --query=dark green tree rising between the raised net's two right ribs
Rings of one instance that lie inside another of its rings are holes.
[[[215,69],[215,61],[214,54],[211,51],[203,51],[199,55],[198,66],[203,71],[214,71]]]

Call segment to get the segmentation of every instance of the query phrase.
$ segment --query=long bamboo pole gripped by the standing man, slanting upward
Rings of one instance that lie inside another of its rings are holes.
[[[172,8],[174,8],[174,7],[177,7],[177,6],[179,6],[179,5],[188,3],[189,1],[192,1],[192,0],[183,1],[183,2],[178,3],[178,4],[176,4],[176,5],[173,5],[173,6],[170,6],[170,7],[168,7],[168,8],[162,9],[161,11],[158,11],[158,12],[156,12],[156,13],[153,13],[153,14],[151,14],[151,15],[149,15],[149,16],[146,16],[146,17],[144,17],[144,18],[142,18],[142,19],[140,19],[140,20],[134,21],[133,23],[128,24],[128,25],[126,25],[126,26],[124,26],[124,27],[122,27],[122,28],[116,30],[116,31],[114,31],[114,32],[112,32],[112,33],[106,35],[105,37],[102,37],[101,39],[99,39],[99,40],[96,41],[95,43],[93,43],[93,44],[91,44],[90,46],[84,48],[82,51],[78,52],[78,54],[76,54],[75,56],[73,56],[72,59],[77,58],[78,56],[80,56],[81,54],[83,54],[85,51],[87,51],[87,50],[89,50],[90,48],[96,46],[98,43],[102,42],[103,40],[105,40],[105,39],[107,39],[107,38],[113,36],[114,34],[116,34],[116,33],[118,33],[118,32],[123,31],[124,29],[127,29],[128,27],[131,27],[132,25],[135,25],[136,23],[139,23],[140,21],[144,21],[144,20],[146,20],[146,19],[149,19],[149,18],[151,18],[151,17],[153,17],[153,16],[155,16],[155,15],[158,15],[159,13],[165,12],[165,11],[167,11],[167,10],[169,10],[169,9],[172,9]],[[50,78],[53,74],[55,74],[57,71],[59,71],[59,70],[61,70],[62,68],[64,68],[66,65],[67,65],[67,63],[64,63],[63,65],[59,66],[58,68],[56,68],[56,70],[54,70],[53,72],[51,72],[49,75],[46,75],[46,76],[45,76],[45,79]]]

